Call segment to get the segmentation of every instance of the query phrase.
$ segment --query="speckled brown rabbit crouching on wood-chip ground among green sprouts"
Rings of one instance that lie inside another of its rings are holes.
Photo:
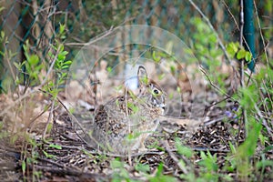
[[[126,92],[96,109],[93,131],[89,134],[96,148],[127,154],[146,150],[144,142],[164,115],[166,94],[148,79],[144,66],[138,66],[138,94]]]

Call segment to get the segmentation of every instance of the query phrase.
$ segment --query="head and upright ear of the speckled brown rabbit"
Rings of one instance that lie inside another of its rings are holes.
[[[148,79],[144,66],[138,67],[137,78],[140,88],[138,97],[144,98],[148,106],[160,109],[160,114],[164,114],[166,94],[156,82]]]

